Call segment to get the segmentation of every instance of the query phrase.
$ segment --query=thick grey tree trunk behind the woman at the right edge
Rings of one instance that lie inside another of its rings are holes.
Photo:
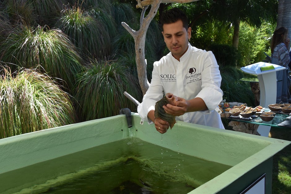
[[[278,16],[277,27],[284,26],[288,28],[289,38],[291,37],[291,1],[279,0],[278,1]],[[290,45],[289,47],[290,48]]]

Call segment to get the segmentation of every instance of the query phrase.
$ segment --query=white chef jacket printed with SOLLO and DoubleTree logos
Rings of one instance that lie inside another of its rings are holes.
[[[200,97],[208,110],[188,112],[177,120],[224,129],[219,112],[223,92],[220,89],[219,66],[211,51],[201,50],[188,43],[186,53],[175,59],[171,52],[154,62],[150,87],[137,107],[141,121],[153,122],[147,115],[166,93],[186,100]]]

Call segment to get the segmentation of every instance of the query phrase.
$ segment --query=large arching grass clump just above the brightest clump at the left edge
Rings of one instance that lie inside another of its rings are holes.
[[[75,85],[75,76],[82,69],[82,59],[75,46],[58,29],[22,26],[2,42],[0,54],[1,61],[11,64],[11,71],[41,66],[41,72],[63,80],[61,84],[65,88]]]

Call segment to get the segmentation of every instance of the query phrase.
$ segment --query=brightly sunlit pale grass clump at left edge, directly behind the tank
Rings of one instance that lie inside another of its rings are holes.
[[[74,123],[69,96],[49,76],[1,68],[0,138]]]

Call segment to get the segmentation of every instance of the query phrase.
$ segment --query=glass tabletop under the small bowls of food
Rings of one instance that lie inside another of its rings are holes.
[[[265,109],[266,112],[270,112],[269,109]],[[278,126],[279,123],[282,123],[286,120],[287,117],[289,117],[289,114],[280,114],[276,113],[274,116],[274,119],[271,121],[263,121],[259,115],[256,115],[256,117],[253,117],[252,119],[241,119],[241,118],[235,118],[235,117],[221,117],[221,119],[227,119],[227,120],[232,120],[232,121],[240,121],[240,122],[245,122],[245,123],[252,123],[252,124],[260,124],[260,125],[267,125],[271,127],[283,127],[283,126]],[[291,120],[290,120],[291,121]],[[284,126],[284,127],[291,127],[290,126]]]

